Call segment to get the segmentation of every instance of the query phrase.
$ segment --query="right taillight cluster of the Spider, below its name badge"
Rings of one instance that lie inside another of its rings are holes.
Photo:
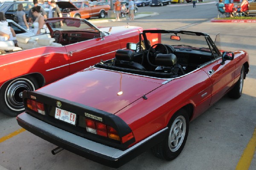
[[[108,137],[116,141],[120,141],[120,137],[113,127],[89,119],[85,119],[85,123],[87,132]]]

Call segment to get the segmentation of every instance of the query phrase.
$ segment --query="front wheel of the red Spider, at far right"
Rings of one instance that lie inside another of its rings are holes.
[[[242,95],[243,91],[243,86],[244,86],[244,66],[241,68],[241,75],[239,80],[236,82],[236,85],[233,87],[230,92],[228,92],[228,96],[230,98],[240,98]]]

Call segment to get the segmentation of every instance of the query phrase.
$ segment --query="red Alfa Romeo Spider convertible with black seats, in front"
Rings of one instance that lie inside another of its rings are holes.
[[[147,36],[154,34],[163,43],[150,46]],[[189,121],[225,94],[241,96],[249,57],[220,51],[201,32],[144,30],[140,36],[144,50],[119,49],[111,60],[24,91],[18,124],[56,144],[54,154],[63,148],[110,167],[150,147],[159,158],[176,158]]]

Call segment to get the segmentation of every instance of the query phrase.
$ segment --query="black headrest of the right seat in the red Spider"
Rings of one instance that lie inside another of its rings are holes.
[[[155,63],[158,66],[174,66],[177,63],[177,57],[174,54],[158,54]]]

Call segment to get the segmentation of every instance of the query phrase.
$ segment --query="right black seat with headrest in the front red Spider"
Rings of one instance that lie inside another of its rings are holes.
[[[186,74],[180,64],[177,64],[177,57],[174,54],[158,54],[155,58],[156,72],[175,73],[177,75]]]

